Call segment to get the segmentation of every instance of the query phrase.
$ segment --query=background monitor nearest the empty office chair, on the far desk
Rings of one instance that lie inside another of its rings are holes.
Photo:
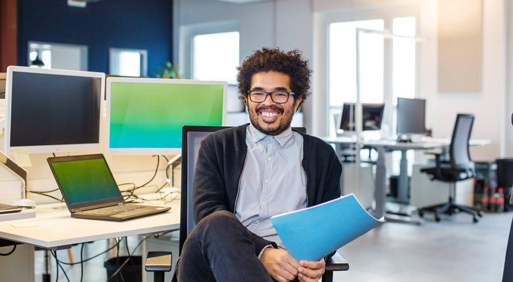
[[[426,100],[397,98],[397,135],[425,134]]]

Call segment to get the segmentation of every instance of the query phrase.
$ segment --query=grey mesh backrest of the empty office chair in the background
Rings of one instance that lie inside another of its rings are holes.
[[[452,139],[450,143],[450,160],[453,167],[468,168],[472,166],[470,152],[468,150],[468,141],[472,132],[474,116],[472,114],[458,114]]]

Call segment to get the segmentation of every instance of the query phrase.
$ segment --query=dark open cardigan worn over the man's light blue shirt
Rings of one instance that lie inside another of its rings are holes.
[[[194,169],[192,209],[194,221],[220,210],[235,212],[235,200],[246,160],[246,128],[249,124],[216,131],[203,139]],[[333,148],[323,140],[303,136],[303,169],[306,174],[307,206],[340,197],[342,165]],[[252,233],[255,254],[273,245]],[[314,242],[311,242],[314,243]],[[326,262],[332,254],[325,257]]]

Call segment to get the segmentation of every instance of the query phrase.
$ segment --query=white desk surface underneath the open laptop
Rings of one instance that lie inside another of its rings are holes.
[[[153,234],[180,227],[180,198],[168,203],[166,213],[127,221],[72,218],[65,203],[38,205],[36,217],[0,222],[0,238],[46,249],[88,241],[140,234]],[[49,211],[55,209],[53,211]],[[14,225],[35,225],[18,227]]]

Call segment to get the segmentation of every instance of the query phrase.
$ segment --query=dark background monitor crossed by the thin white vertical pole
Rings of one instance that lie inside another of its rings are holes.
[[[343,131],[354,131],[356,128],[354,105],[354,103],[344,103],[342,106],[339,128]],[[384,109],[384,104],[362,104],[362,129],[364,131],[380,130]]]

